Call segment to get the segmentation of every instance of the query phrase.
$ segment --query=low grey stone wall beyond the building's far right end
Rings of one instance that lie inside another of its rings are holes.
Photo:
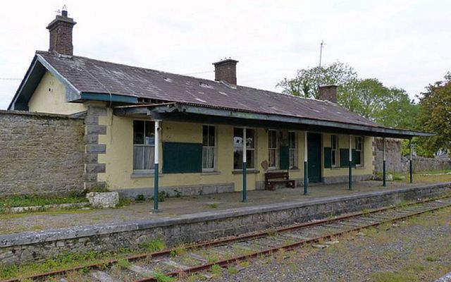
[[[376,138],[374,169],[383,170],[383,139]],[[402,140],[385,139],[385,163],[387,171],[409,172],[409,157],[403,157]],[[414,172],[451,169],[451,159],[413,157]]]

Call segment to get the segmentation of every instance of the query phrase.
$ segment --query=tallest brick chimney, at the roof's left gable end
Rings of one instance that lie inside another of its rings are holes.
[[[63,55],[73,55],[72,28],[75,24],[73,18],[68,18],[68,11],[66,6],[64,6],[61,16],[57,15],[47,25],[47,30],[50,32],[49,51]]]

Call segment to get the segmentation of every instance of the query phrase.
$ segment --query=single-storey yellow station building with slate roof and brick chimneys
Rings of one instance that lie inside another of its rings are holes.
[[[74,25],[63,11],[47,26],[49,51],[36,51],[8,109],[85,118],[85,188],[245,192],[280,172],[306,189],[352,188],[373,176],[374,137],[430,135],[343,109],[334,85],[321,86],[320,99],[237,85],[233,59],[214,63],[215,80],[205,80],[74,56]]]

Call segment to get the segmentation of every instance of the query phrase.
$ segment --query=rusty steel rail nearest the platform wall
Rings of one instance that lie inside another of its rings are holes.
[[[286,231],[292,231],[292,230],[296,230],[299,228],[307,228],[307,227],[311,227],[311,226],[321,226],[324,223],[333,223],[335,221],[341,221],[344,219],[352,219],[358,216],[362,216],[362,215],[368,215],[368,214],[376,214],[378,212],[385,212],[385,211],[389,211],[389,210],[393,210],[393,209],[401,209],[404,207],[410,207],[410,206],[414,206],[417,204],[424,204],[427,202],[434,202],[437,200],[442,200],[442,199],[446,199],[451,197],[450,195],[445,195],[442,197],[435,197],[432,199],[427,199],[427,200],[421,200],[421,201],[416,201],[416,202],[410,202],[407,204],[402,204],[400,206],[390,206],[390,207],[382,207],[382,208],[378,208],[378,209],[371,209],[368,212],[356,212],[356,213],[352,213],[352,214],[347,214],[344,216],[335,216],[333,219],[320,219],[320,220],[316,220],[316,221],[309,221],[309,222],[304,222],[304,223],[297,223],[297,224],[292,224],[290,226],[283,226],[280,228],[274,228],[268,231],[260,231],[257,233],[250,233],[250,234],[245,234],[245,235],[237,235],[237,236],[233,236],[233,237],[228,237],[228,238],[221,238],[221,239],[214,239],[214,240],[207,240],[207,241],[202,241],[199,243],[195,243],[192,245],[187,245],[186,246],[186,250],[195,250],[195,249],[199,249],[199,248],[205,248],[205,247],[211,247],[211,246],[216,246],[216,245],[225,245],[226,243],[230,243],[230,242],[239,242],[242,240],[248,240],[248,239],[254,239],[254,238],[262,238],[265,237],[267,235],[271,235],[274,233],[283,233]],[[445,206],[446,207],[446,206]],[[443,208],[443,206],[438,207],[438,209]],[[431,209],[434,210],[434,209]],[[370,226],[368,226],[370,227]],[[312,239],[314,240],[314,239]],[[273,249],[280,249],[281,247],[276,247]],[[170,249],[166,249],[166,250],[161,250],[161,251],[157,251],[157,252],[152,252],[152,253],[144,253],[144,254],[138,254],[138,255],[130,255],[128,257],[125,257],[123,259],[128,260],[129,262],[133,262],[139,259],[144,259],[146,257],[162,257],[165,255],[171,255],[171,252],[174,252],[176,250],[175,247],[170,248]],[[272,249],[271,249],[272,250]],[[264,255],[264,254],[262,254]],[[230,260],[235,260],[235,258],[233,259],[228,259],[226,261],[230,261]],[[63,274],[68,274],[70,272],[73,271],[79,271],[79,270],[84,270],[84,269],[104,269],[105,267],[108,266],[112,266],[113,264],[116,264],[118,262],[118,259],[108,259],[105,260],[103,262],[98,262],[98,263],[94,263],[94,264],[86,264],[86,265],[81,265],[81,266],[75,266],[75,267],[70,267],[67,269],[60,269],[60,270],[56,270],[56,271],[48,271],[42,274],[34,274],[31,276],[20,276],[17,278],[11,278],[11,279],[7,279],[7,280],[2,280],[0,282],[20,282],[22,280],[39,280],[42,278],[47,278],[49,276],[56,276],[56,275],[63,275]],[[218,262],[214,263],[214,264],[218,264]],[[210,264],[209,264],[210,265]],[[213,265],[213,264],[211,264]],[[210,266],[211,266],[210,265]],[[194,266],[197,267],[197,266]],[[183,270],[182,270],[183,271]],[[180,271],[178,271],[177,273],[179,273]],[[186,271],[185,271],[186,272]],[[196,271],[193,271],[196,272]],[[171,274],[175,274],[175,271]],[[143,280],[143,281],[156,281],[156,280]]]

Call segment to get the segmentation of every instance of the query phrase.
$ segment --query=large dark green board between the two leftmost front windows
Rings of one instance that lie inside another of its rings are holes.
[[[202,144],[163,142],[163,173],[202,172]]]

